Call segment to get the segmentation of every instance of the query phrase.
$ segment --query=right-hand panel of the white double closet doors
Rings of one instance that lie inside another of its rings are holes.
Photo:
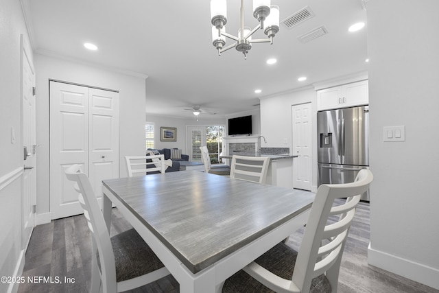
[[[97,198],[102,180],[119,178],[119,93],[88,89],[88,178]]]

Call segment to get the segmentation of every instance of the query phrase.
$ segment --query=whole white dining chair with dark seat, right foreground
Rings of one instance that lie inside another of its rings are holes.
[[[349,227],[372,180],[372,172],[362,169],[353,183],[320,185],[298,253],[276,244],[227,279],[222,292],[337,292]],[[334,205],[335,198],[346,201]]]

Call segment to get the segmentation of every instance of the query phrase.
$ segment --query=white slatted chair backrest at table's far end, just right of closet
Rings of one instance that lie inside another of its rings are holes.
[[[163,154],[149,156],[126,156],[126,167],[128,168],[128,176],[133,174],[145,175],[150,172],[165,173],[165,156]],[[150,167],[147,167],[150,165]]]

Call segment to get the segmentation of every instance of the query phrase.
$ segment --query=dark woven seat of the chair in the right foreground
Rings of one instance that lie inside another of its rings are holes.
[[[296,263],[297,252],[283,242],[277,244],[268,252],[255,260],[260,266],[270,272],[291,280]],[[265,287],[244,270],[239,270],[236,274],[226,280],[222,292],[274,292]],[[324,274],[314,278],[311,282],[311,293],[332,292],[331,284]]]

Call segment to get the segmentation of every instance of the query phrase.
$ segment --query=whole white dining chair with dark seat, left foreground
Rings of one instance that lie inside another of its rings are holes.
[[[169,271],[133,228],[110,238],[91,183],[79,165],[65,171],[75,182],[92,235],[90,292],[123,292],[165,277]]]

